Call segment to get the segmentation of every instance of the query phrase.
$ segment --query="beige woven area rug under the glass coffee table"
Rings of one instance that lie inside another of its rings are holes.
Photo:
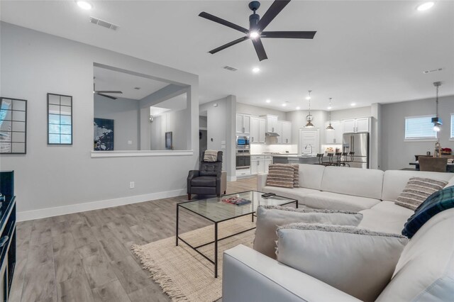
[[[243,216],[218,224],[218,236],[225,237],[242,230],[255,227],[250,216]],[[255,230],[235,235],[218,242],[218,278],[214,278],[214,264],[179,241],[175,246],[175,236],[148,245],[133,245],[131,250],[138,256],[143,268],[151,273],[151,278],[172,301],[211,302],[222,296],[222,254],[236,245],[252,247]],[[193,246],[214,240],[214,225],[193,230],[180,235]],[[199,249],[210,259],[214,259],[214,244]]]

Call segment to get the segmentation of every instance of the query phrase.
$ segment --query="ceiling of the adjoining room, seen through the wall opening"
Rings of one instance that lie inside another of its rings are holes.
[[[96,84],[96,90],[119,90],[122,91],[123,94],[107,95],[119,96],[126,99],[140,100],[168,85],[168,83],[165,82],[101,67],[93,67],[93,74],[95,77],[94,84]],[[140,89],[135,89],[135,87],[140,87]]]

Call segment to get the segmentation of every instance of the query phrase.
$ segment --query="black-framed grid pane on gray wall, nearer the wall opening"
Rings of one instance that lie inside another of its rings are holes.
[[[48,145],[72,145],[72,96],[48,94]]]

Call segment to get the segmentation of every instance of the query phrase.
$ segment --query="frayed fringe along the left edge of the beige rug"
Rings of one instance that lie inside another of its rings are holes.
[[[131,250],[140,259],[144,269],[148,269],[151,273],[150,277],[159,284],[161,289],[167,293],[174,302],[189,302],[189,299],[184,296],[179,289],[175,287],[175,282],[170,279],[162,269],[157,266],[155,261],[151,259],[140,245],[132,245]]]

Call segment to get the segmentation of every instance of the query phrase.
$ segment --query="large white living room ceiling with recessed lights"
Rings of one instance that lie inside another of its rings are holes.
[[[1,1],[2,21],[104,47],[199,74],[200,102],[228,94],[283,111],[333,109],[454,95],[454,1],[292,1],[267,30],[317,30],[314,40],[263,39],[269,60],[258,62],[250,41],[209,50],[242,36],[197,16],[201,11],[248,27],[248,1]],[[272,1],[262,1],[262,16]],[[116,31],[88,22],[95,16]],[[222,69],[236,67],[237,72]],[[260,67],[259,74],[251,69]],[[423,74],[443,67],[443,71]],[[98,87],[96,87],[98,88]],[[265,100],[272,102],[266,104]],[[288,106],[282,107],[282,102]]]

